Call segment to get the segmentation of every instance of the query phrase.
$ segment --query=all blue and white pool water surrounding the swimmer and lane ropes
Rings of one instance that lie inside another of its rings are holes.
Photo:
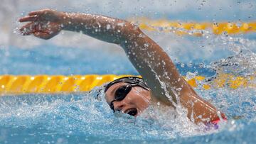
[[[16,19],[35,9],[182,21],[255,19],[255,1],[76,0],[45,4],[29,0],[2,1],[1,6],[0,74],[138,74],[116,45],[73,33],[60,33],[51,40],[16,34]],[[212,79],[228,72],[255,77],[255,33],[213,35],[204,31],[203,37],[145,33],[166,50],[184,76]],[[228,116],[218,130],[205,131],[204,126],[188,121],[186,113],[174,114],[174,110],[161,106],[150,106],[136,119],[113,114],[104,94],[95,99],[97,87],[90,93],[1,96],[0,143],[256,143],[255,87],[230,89],[226,85],[204,90],[202,84],[196,92]]]

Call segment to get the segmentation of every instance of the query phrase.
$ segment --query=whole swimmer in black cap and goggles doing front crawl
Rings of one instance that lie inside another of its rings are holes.
[[[216,123],[225,119],[224,113],[196,94],[178,73],[169,55],[128,21],[51,9],[32,11],[19,21],[27,22],[20,29],[22,35],[47,40],[60,31],[75,31],[120,45],[143,79],[124,77],[105,86],[105,99],[113,111],[139,116],[150,103],[174,109],[181,104],[194,123]]]

